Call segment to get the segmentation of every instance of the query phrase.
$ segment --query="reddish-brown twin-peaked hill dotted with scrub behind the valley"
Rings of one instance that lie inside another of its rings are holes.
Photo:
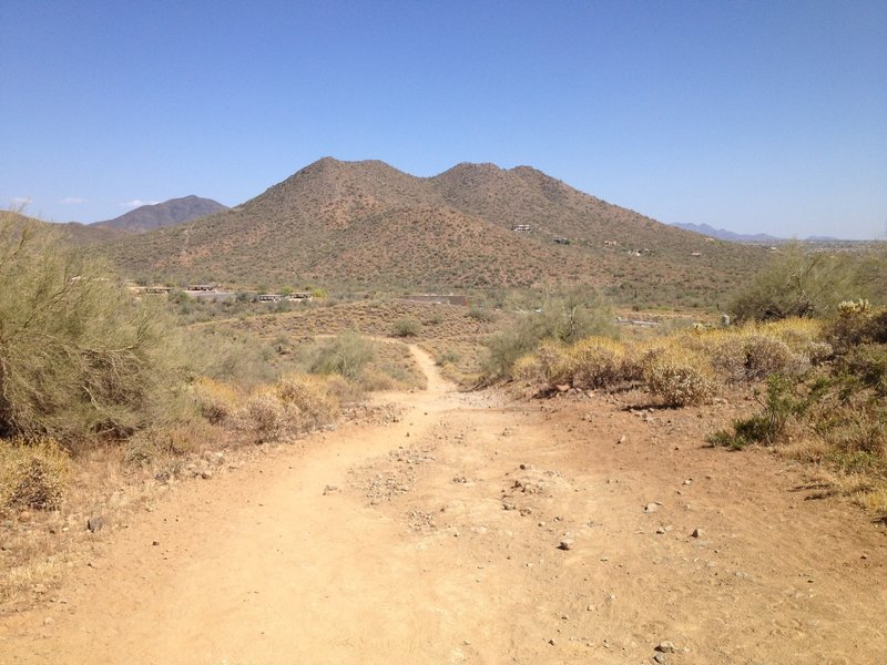
[[[572,282],[708,305],[763,259],[527,166],[459,164],[424,178],[330,157],[235,208],[105,250],[133,276],[410,289]]]

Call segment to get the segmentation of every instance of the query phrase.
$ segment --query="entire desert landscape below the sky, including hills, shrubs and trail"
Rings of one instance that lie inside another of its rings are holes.
[[[0,214],[0,663],[875,663],[884,243],[325,157]]]

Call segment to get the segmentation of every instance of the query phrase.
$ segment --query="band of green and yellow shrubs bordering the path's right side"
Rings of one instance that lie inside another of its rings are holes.
[[[758,411],[712,432],[712,444],[764,446],[817,464],[884,519],[887,308],[842,299],[874,293],[883,270],[870,256],[789,247],[736,295],[740,323],[631,340],[593,326],[565,334],[564,308],[553,317],[549,308],[490,339],[486,377],[542,396],[632,392],[664,408],[751,398]]]

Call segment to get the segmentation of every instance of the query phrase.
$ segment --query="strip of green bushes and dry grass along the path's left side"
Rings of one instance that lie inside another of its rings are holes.
[[[0,215],[0,518],[49,525],[4,541],[0,598],[58,574],[73,535],[52,534],[86,531],[92,511],[211,478],[238,450],[328,426],[368,390],[424,385],[402,344],[349,330],[294,342],[191,314],[175,294],[137,297],[51,225]]]

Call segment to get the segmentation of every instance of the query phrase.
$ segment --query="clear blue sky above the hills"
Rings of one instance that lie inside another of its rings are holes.
[[[665,223],[887,233],[887,0],[0,0],[0,204],[242,203],[326,155]]]

